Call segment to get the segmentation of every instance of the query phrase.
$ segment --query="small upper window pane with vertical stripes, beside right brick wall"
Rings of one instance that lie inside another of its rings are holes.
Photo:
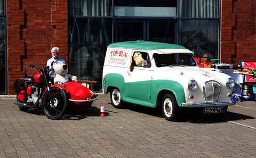
[[[180,0],[180,17],[218,18],[219,0]]]

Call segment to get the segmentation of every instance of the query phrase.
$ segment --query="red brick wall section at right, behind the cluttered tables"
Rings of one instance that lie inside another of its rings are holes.
[[[230,64],[256,61],[256,1],[221,1],[220,56]]]

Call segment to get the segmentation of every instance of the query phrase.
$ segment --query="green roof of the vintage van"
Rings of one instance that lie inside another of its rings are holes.
[[[169,43],[160,43],[155,41],[122,41],[110,44],[108,47],[119,47],[119,48],[133,48],[133,49],[143,49],[143,50],[154,50],[154,49],[186,49],[183,46],[169,44]]]

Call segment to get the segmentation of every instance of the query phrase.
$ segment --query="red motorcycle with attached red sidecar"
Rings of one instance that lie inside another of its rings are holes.
[[[49,66],[40,68],[34,77],[23,77],[14,82],[17,104],[21,111],[31,108],[42,109],[48,119],[60,119],[67,109],[91,107],[97,96],[78,82],[53,82],[55,71]]]

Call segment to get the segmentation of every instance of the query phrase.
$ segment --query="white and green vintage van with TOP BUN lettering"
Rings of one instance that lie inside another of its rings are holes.
[[[134,53],[145,63],[137,66]],[[143,66],[141,66],[143,65]],[[202,113],[225,113],[232,101],[234,79],[224,73],[199,68],[194,53],[183,46],[152,41],[110,44],[103,66],[103,93],[111,104],[124,102],[162,106],[166,120],[174,120],[181,107],[198,107]]]

